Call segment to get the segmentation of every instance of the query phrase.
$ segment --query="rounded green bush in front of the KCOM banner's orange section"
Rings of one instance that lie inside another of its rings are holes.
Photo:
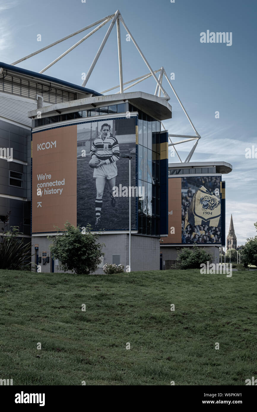
[[[57,228],[58,229],[58,228]],[[65,224],[65,232],[48,239],[52,240],[50,251],[54,259],[59,260],[60,269],[76,274],[95,272],[104,256],[104,243],[97,243],[98,235],[91,232],[91,226],[81,232],[80,226],[74,227],[69,222]],[[58,229],[59,232],[59,229]]]

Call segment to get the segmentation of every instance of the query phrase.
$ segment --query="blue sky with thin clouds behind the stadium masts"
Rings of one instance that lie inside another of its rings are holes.
[[[123,19],[153,70],[164,66],[198,133],[202,136],[191,161],[225,161],[233,166],[226,180],[226,232],[230,215],[238,245],[256,234],[257,159],[246,159],[255,145],[256,32],[255,2],[245,0],[0,0],[0,61],[12,63],[120,9]],[[82,84],[109,23],[80,44],[45,74]],[[91,29],[92,30],[92,29]],[[232,32],[232,45],[201,43],[200,33]],[[80,40],[80,33],[19,63],[40,71]],[[41,34],[42,41],[37,41]],[[124,81],[149,72],[121,27]],[[116,28],[113,29],[87,87],[99,92],[118,84]],[[173,118],[164,122],[170,133],[193,134],[166,80]],[[154,94],[153,78],[130,89]],[[219,111],[219,119],[215,112]],[[182,159],[193,143],[179,146]],[[170,161],[176,161],[170,157]]]

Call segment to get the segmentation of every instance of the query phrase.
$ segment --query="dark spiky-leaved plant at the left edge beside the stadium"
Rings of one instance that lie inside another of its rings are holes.
[[[24,243],[19,227],[11,226],[5,231],[11,212],[5,215],[3,220],[0,241],[0,269],[28,270],[31,269],[31,244]]]

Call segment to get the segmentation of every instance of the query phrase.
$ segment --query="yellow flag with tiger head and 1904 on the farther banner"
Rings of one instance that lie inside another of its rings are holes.
[[[207,225],[220,227],[221,207],[220,200],[214,194],[211,194],[204,186],[200,186],[189,205],[186,213],[185,227],[189,223],[192,226]]]

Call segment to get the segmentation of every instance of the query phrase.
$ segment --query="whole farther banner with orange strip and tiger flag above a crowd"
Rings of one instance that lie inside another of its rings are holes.
[[[162,243],[222,243],[221,176],[168,179],[169,234]]]

